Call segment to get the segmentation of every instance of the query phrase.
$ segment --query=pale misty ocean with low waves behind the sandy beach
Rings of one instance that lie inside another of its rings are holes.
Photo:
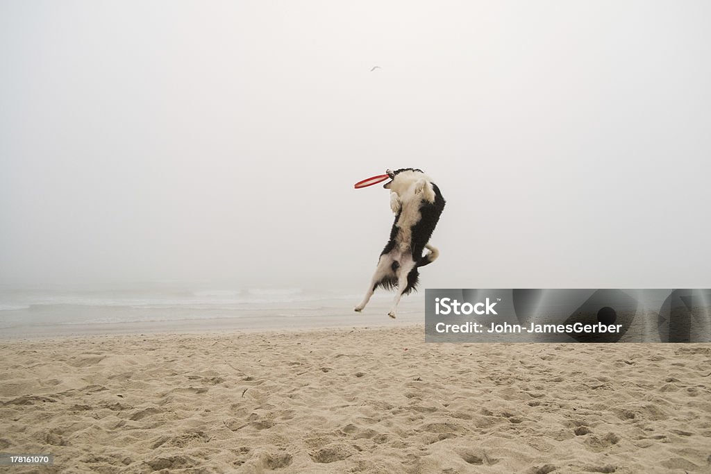
[[[121,289],[0,289],[0,337],[318,328],[388,323],[392,293],[363,313],[355,290],[146,285]],[[406,296],[399,321],[424,322],[424,291]]]

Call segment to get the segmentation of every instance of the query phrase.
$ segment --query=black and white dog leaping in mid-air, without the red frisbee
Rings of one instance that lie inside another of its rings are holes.
[[[409,294],[417,286],[417,269],[439,257],[439,250],[428,242],[444,210],[444,198],[437,185],[422,170],[402,168],[387,170],[386,173],[391,181],[385,183],[383,188],[390,190],[390,208],[395,212],[395,222],[368,291],[363,301],[355,306],[355,311],[362,311],[375,289],[382,286],[397,290],[390,313],[387,313],[390,318],[395,318],[402,295]],[[428,252],[422,255],[424,249]]]

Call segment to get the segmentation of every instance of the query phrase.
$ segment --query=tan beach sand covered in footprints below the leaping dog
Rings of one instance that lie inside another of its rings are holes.
[[[711,472],[711,345],[422,325],[0,343],[11,473]]]

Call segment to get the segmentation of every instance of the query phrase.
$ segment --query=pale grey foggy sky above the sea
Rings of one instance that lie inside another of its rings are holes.
[[[710,14],[4,1],[0,281],[364,290],[418,167],[422,288],[709,288]]]

